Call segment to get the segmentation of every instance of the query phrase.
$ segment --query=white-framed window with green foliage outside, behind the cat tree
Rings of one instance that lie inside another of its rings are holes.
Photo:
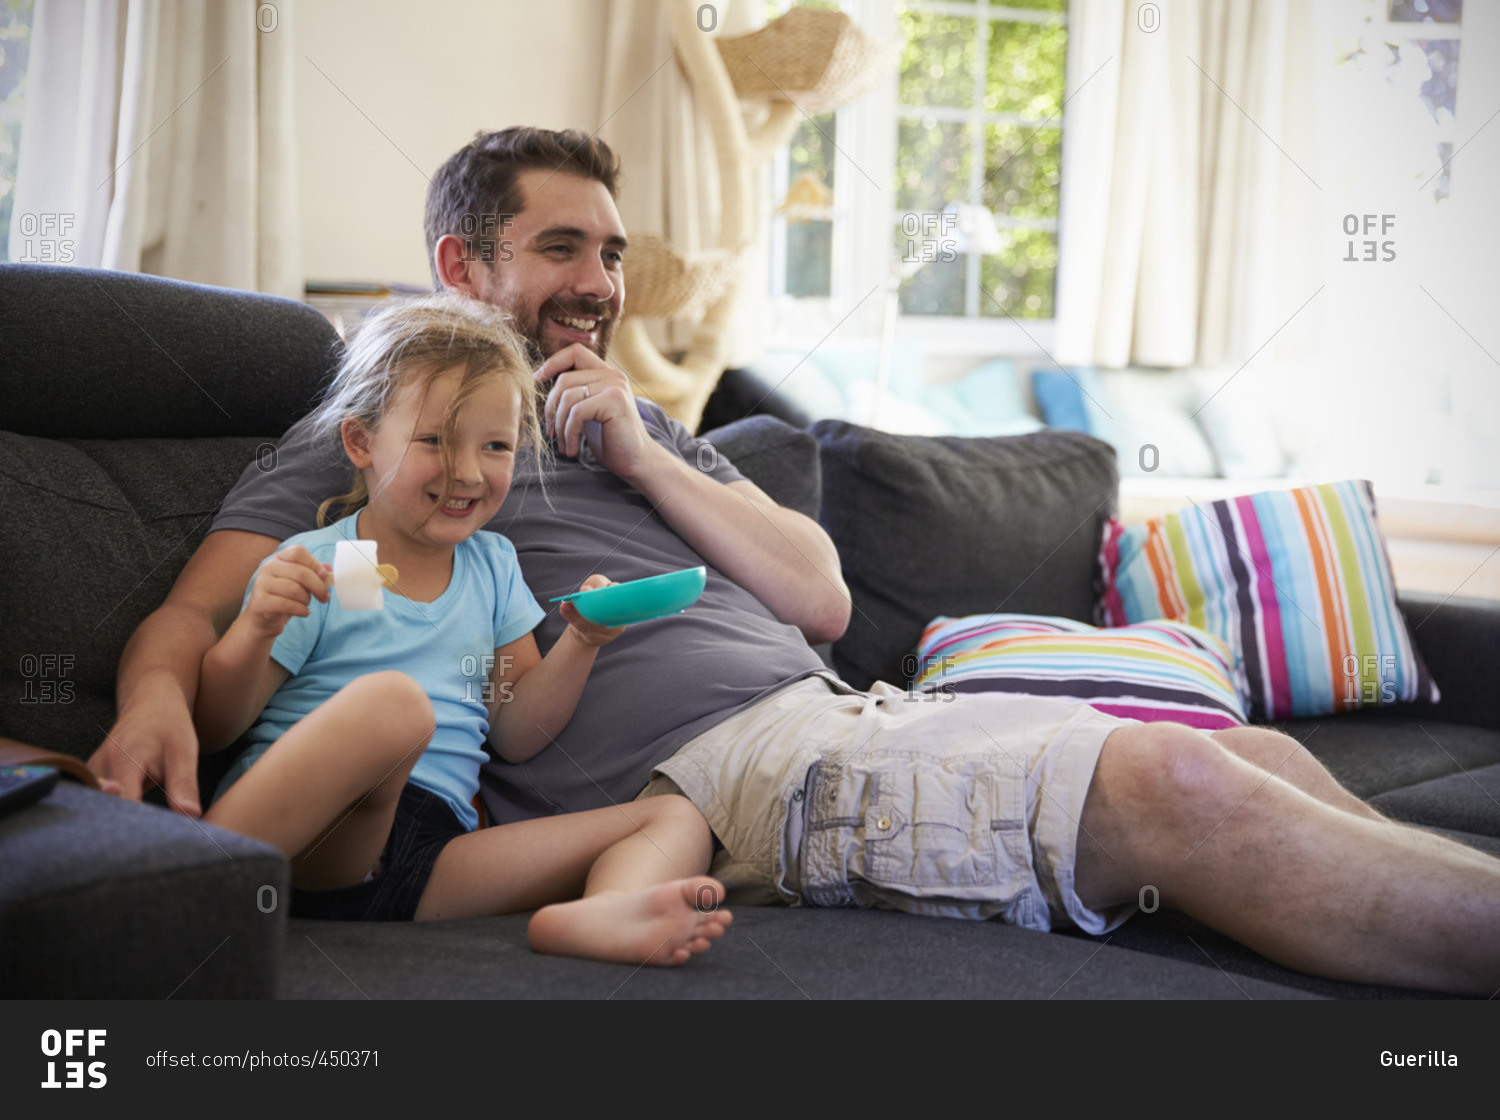
[[[788,6],[768,0],[766,18]],[[832,327],[872,277],[902,265],[903,333],[936,349],[1035,352],[1056,309],[1065,0],[843,7],[874,39],[906,45],[894,82],[804,117],[776,160],[772,204],[807,175],[834,198],[812,220],[774,219],[777,328]],[[954,204],[993,214],[993,252],[966,250],[944,213]],[[867,298],[850,325],[878,330],[880,303]]]

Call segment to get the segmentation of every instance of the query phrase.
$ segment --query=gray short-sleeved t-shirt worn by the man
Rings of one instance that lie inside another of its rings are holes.
[[[723,456],[662,409],[638,400],[646,432],[720,483],[741,480]],[[213,529],[285,540],[316,528],[318,504],[345,493],[352,468],[338,444],[315,444],[296,424],[270,460],[250,463],[224,499]],[[651,768],[694,735],[768,691],[824,670],[796,627],[708,565],[634,489],[594,462],[554,459],[544,484],[530,454],[516,459],[510,496],[486,529],[516,546],[526,586],[548,610],[543,652],[566,628],[554,595],[598,571],[616,583],[699,564],[702,598],[681,615],[638,622],[600,649],[572,721],[525,763],[490,762],[483,795],[495,822],[598,808],[640,792]],[[210,529],[212,531],[212,529]],[[393,666],[399,667],[399,666]]]

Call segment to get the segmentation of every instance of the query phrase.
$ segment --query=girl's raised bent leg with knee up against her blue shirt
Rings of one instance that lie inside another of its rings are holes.
[[[279,847],[300,888],[360,883],[432,726],[410,676],[362,676],[272,744],[204,820]]]

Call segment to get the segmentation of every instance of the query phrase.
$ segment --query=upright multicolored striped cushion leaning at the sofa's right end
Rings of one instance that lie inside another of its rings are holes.
[[[1256,721],[1438,699],[1396,607],[1368,481],[1228,498],[1106,528],[1101,622],[1191,622],[1239,657]]]

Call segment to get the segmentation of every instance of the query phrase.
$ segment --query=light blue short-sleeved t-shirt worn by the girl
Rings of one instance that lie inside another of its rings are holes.
[[[291,537],[282,549],[302,544],[332,565],[334,546],[357,540],[357,523],[358,513]],[[246,588],[244,601],[249,595]],[[489,760],[484,699],[495,651],[530,634],[544,616],[520,577],[512,543],[483,529],[462,541],[453,550],[453,577],[432,603],[386,591],[382,610],[345,610],[330,592],[328,603],[310,600],[308,607],[312,613],[288,621],[272,646],[272,658],[291,676],[246,732],[249,747],[214,796],[339,688],[366,673],[399,669],[422,685],[436,717],[432,742],[410,780],[442,798],[465,828],[477,828],[472,801],[480,766]]]

